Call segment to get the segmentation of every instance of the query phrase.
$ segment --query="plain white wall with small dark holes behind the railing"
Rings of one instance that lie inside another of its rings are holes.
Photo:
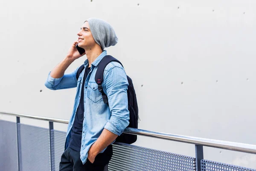
[[[84,20],[97,17],[119,36],[107,50],[134,81],[140,129],[256,144],[255,8],[254,0],[2,0],[0,111],[69,119],[76,90],[44,81]],[[135,144],[195,156],[193,145]],[[256,168],[256,155],[204,149],[205,159]]]

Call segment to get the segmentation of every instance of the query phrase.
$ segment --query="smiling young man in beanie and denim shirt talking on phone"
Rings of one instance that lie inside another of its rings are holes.
[[[77,87],[73,113],[70,118],[61,156],[60,171],[103,171],[108,164],[112,143],[129,124],[128,80],[118,62],[109,63],[104,70],[102,87],[108,104],[102,99],[95,82],[99,62],[107,55],[106,47],[116,45],[118,38],[107,22],[90,18],[84,22],[67,56],[49,73],[45,86],[51,90]],[[87,59],[84,70],[76,78],[64,74],[69,65],[80,58],[76,45],[84,48]]]

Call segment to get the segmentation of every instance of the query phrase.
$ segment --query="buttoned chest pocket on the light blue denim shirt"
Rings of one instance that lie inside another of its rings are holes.
[[[98,90],[98,84],[96,82],[88,82],[88,90],[87,90],[88,98],[97,103],[102,99],[102,93]]]

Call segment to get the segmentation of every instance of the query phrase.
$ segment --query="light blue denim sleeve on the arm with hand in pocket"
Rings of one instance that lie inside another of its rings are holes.
[[[128,80],[125,71],[121,67],[113,67],[107,71],[103,78],[108,104],[111,112],[111,118],[105,125],[105,129],[116,135],[121,135],[129,125],[128,110]]]

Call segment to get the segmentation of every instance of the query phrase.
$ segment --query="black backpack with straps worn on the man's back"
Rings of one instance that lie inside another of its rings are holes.
[[[108,104],[108,97],[104,93],[103,88],[102,88],[102,82],[103,82],[103,73],[105,67],[110,63],[110,62],[118,62],[119,64],[122,65],[121,62],[119,62],[117,59],[115,59],[113,56],[107,55],[105,56],[98,64],[98,69],[95,74],[95,81],[98,84],[98,90],[102,93],[102,98],[105,104]],[[84,70],[84,64],[79,67],[76,73],[76,78],[78,79],[80,76],[80,73]],[[138,128],[138,119],[139,119],[139,111],[138,111],[138,104],[137,104],[137,98],[136,98],[136,93],[134,90],[134,86],[132,84],[132,80],[130,77],[127,76],[128,79],[128,90],[127,90],[127,95],[128,95],[128,110],[130,112],[130,120],[129,120],[129,128]],[[131,144],[134,143],[137,140],[137,135],[131,135],[131,134],[121,134],[116,138],[116,142],[120,143],[126,143],[126,144]]]

